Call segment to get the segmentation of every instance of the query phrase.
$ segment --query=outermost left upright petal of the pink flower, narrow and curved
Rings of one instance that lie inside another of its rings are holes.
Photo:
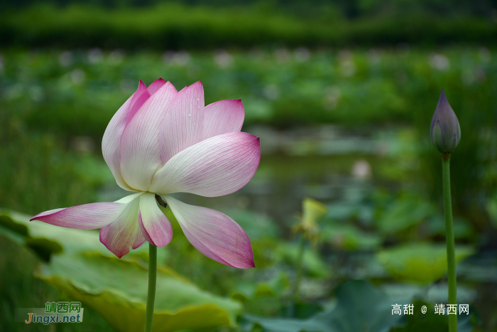
[[[128,191],[134,190],[129,186],[121,174],[121,164],[119,159],[119,144],[121,142],[121,136],[128,124],[129,120],[133,118],[133,115],[138,111],[138,109],[143,105],[144,102],[150,97],[150,93],[146,89],[146,85],[140,80],[138,84],[138,89],[131,97],[124,103],[124,105],[119,108],[119,110],[114,114],[111,121],[105,129],[104,137],[102,138],[102,154],[104,155],[105,162],[111,169],[114,178],[116,178],[117,184]]]

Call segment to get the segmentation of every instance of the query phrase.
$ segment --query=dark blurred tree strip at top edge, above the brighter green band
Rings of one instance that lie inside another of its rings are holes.
[[[496,0],[0,0],[2,8],[24,7],[33,4],[68,6],[90,4],[116,9],[119,7],[148,7],[164,3],[186,6],[239,7],[257,6],[260,9],[285,11],[305,17],[343,16],[361,18],[371,15],[408,14],[415,12],[440,16],[474,15],[492,18]]]

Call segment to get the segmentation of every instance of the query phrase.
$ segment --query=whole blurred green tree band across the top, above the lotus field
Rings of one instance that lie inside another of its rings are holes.
[[[212,49],[491,43],[497,0],[0,0],[0,45]]]

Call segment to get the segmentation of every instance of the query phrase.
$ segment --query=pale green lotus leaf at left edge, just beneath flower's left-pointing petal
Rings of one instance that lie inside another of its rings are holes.
[[[114,254],[100,242],[98,230],[75,230],[39,220],[29,221],[30,218],[22,213],[0,209],[0,234],[18,243],[22,238],[26,245],[33,247],[38,254],[47,259],[52,253],[58,252],[65,254],[99,252],[104,256],[114,257]],[[158,250],[158,262],[163,262],[164,254],[163,250]],[[148,260],[147,245],[130,250],[123,259],[134,260],[138,257]]]

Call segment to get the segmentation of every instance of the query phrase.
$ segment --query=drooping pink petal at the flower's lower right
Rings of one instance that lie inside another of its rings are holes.
[[[216,210],[188,205],[170,196],[164,198],[198,251],[230,267],[255,267],[249,236],[233,219]]]

